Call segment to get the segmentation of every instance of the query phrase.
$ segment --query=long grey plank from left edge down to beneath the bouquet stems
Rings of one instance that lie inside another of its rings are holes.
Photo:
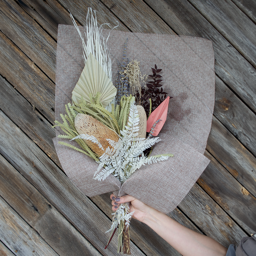
[[[103,248],[108,241],[108,234],[105,234],[105,231],[111,225],[110,219],[82,195],[48,156],[3,112],[0,112],[0,123],[3,124],[0,154],[33,184],[91,244],[106,255]],[[12,134],[11,137],[9,133]],[[115,255],[116,246],[115,238],[109,246],[107,255]],[[136,245],[132,244],[132,246],[136,255],[144,255]]]

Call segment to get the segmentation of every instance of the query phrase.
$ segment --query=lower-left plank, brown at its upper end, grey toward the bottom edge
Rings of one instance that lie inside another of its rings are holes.
[[[58,255],[102,255],[2,156],[0,165],[1,196]]]

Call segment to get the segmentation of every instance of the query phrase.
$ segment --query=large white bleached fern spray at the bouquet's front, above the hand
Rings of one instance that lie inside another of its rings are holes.
[[[99,167],[94,174],[95,180],[105,180],[110,174],[125,182],[142,165],[150,165],[172,157],[172,154],[146,157],[144,150],[159,142],[159,138],[136,138],[139,131],[139,115],[134,101],[131,102],[128,123],[121,132],[118,142],[109,141],[113,148],[107,148],[99,157]]]

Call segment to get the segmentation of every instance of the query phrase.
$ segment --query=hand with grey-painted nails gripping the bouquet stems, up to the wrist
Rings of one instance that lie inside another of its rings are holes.
[[[147,204],[144,204],[140,200],[129,195],[116,197],[114,194],[111,194],[110,199],[112,200],[113,211],[117,210],[119,204],[131,202],[130,212],[134,211],[132,218],[137,219],[138,221],[141,222],[143,222],[146,219],[146,216],[150,214],[150,211],[153,209]]]

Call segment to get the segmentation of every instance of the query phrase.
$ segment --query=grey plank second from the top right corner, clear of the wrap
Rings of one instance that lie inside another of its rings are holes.
[[[248,16],[231,0],[187,1],[256,68],[256,26]]]

